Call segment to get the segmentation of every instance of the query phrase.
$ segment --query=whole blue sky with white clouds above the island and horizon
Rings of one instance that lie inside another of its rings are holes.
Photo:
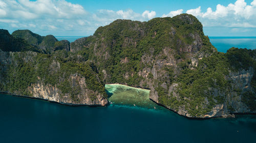
[[[256,36],[256,0],[0,0],[0,28],[45,36],[90,36],[116,19],[196,16],[208,36]]]

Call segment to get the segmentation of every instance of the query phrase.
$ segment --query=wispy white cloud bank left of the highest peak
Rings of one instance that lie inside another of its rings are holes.
[[[133,10],[86,11],[81,5],[65,0],[0,0],[0,26],[8,29],[29,28],[34,32],[63,35],[91,35],[98,26],[116,19],[146,21],[156,16],[155,11],[142,14]]]

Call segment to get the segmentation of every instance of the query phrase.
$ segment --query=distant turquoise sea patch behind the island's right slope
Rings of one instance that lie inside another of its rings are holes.
[[[256,49],[256,37],[209,37],[218,51],[227,52],[231,47]]]

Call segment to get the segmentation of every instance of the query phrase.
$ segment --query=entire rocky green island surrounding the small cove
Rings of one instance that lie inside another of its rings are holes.
[[[256,50],[218,52],[189,14],[115,20],[70,43],[0,30],[0,91],[67,105],[105,106],[106,83],[150,89],[189,118],[256,113]]]

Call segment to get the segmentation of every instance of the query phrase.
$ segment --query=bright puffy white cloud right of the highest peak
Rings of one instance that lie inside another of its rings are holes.
[[[204,26],[256,27],[256,0],[250,5],[244,0],[237,0],[228,6],[218,4],[216,11],[208,8],[201,12],[201,7],[198,7],[186,13],[196,16]]]

